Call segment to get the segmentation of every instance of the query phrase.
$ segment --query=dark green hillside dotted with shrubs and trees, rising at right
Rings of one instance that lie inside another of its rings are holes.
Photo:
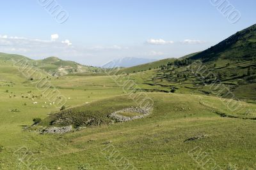
[[[256,99],[256,26],[240,31],[204,52],[180,59],[152,62],[151,70],[134,72],[130,78],[145,92],[206,94],[254,101]],[[232,55],[231,55],[232,54]],[[202,62],[202,63],[200,63]],[[146,64],[146,67],[150,66]],[[142,65],[143,66],[143,65]],[[130,73],[134,68],[121,69]],[[114,71],[113,71],[114,72]],[[212,90],[214,89],[214,90]]]

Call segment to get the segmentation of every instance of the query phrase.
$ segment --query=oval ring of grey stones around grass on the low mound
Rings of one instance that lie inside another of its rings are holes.
[[[115,111],[114,113],[111,113],[109,117],[115,119],[117,122],[127,122],[127,121],[146,117],[150,115],[151,111],[152,111],[152,108],[138,108],[138,107],[133,108],[132,107],[132,108],[125,108],[124,110]],[[136,112],[136,113],[141,113],[142,115],[138,115],[135,117],[124,117],[122,115],[118,115],[118,113],[122,113],[122,112]]]

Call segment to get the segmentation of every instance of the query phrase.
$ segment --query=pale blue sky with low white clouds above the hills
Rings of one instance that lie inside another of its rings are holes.
[[[60,24],[44,1],[54,0],[1,2],[0,52],[33,59],[54,55],[94,66],[122,57],[182,57],[256,20],[255,0],[56,0],[68,13]],[[211,1],[228,2],[240,20],[232,24]]]

